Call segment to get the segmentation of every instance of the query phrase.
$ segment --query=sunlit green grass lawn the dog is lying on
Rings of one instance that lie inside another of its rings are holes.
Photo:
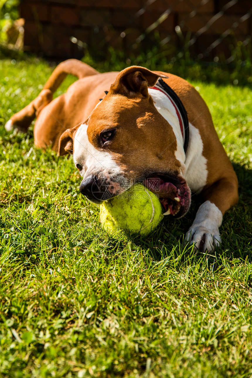
[[[110,67],[113,70],[113,67]],[[108,236],[71,159],[8,134],[52,68],[0,61],[0,376],[252,376],[252,92],[193,82],[239,179],[223,245],[182,245],[198,206],[146,239]],[[73,82],[68,78],[56,95]]]

